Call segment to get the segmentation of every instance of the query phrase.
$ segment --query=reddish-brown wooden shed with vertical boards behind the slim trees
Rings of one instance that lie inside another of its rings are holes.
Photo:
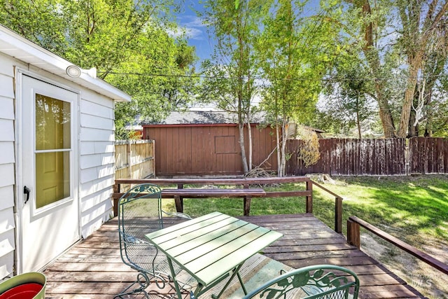
[[[144,139],[155,141],[157,176],[244,174],[238,125],[230,113],[173,111],[160,123],[141,125]],[[260,165],[276,144],[274,130],[258,125],[259,120],[251,125],[253,166]],[[245,140],[247,143],[247,128]],[[263,168],[275,170],[276,167],[274,153]]]

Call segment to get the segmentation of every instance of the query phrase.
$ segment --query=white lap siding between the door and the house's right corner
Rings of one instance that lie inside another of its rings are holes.
[[[80,102],[80,209],[83,237],[97,230],[113,214],[113,128],[113,101],[84,90]]]

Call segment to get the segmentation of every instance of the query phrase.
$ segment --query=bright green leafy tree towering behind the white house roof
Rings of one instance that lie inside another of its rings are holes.
[[[188,102],[196,57],[169,35],[176,29],[176,0],[5,0],[0,22],[27,39],[129,93],[118,104],[116,130],[137,114],[155,118]]]

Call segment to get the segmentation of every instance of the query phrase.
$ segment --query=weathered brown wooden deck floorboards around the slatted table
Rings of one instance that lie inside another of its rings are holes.
[[[325,263],[353,270],[360,279],[360,298],[424,298],[311,214],[239,218],[283,233],[265,249],[269,258],[295,268]],[[113,298],[134,281],[136,272],[120,259],[117,225],[113,218],[47,267],[46,298]]]

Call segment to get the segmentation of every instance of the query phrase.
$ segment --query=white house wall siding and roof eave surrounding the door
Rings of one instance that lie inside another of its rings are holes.
[[[74,181],[78,182],[75,189],[80,200],[82,237],[97,230],[113,214],[113,101],[130,101],[130,96],[87,74],[70,78],[66,74],[69,65],[71,62],[0,25],[0,281],[17,274],[15,256],[20,251],[15,242],[20,229],[20,223],[15,223],[15,197],[21,198],[20,190],[16,190],[16,168],[21,165],[16,160],[15,129],[20,120],[15,119],[15,88],[22,87],[16,86],[20,81],[15,80],[15,68],[79,92],[78,177]]]

